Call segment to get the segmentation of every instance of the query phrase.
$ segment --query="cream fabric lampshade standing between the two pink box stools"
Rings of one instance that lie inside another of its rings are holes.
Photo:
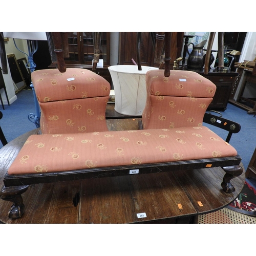
[[[115,91],[115,111],[128,116],[141,116],[146,105],[146,72],[153,67],[118,65],[109,67]]]

